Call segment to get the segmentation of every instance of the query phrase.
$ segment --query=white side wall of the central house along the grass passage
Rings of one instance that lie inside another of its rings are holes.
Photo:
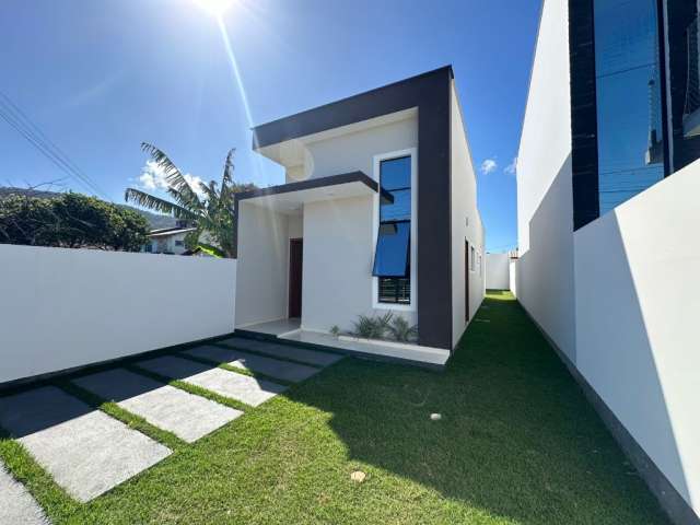
[[[471,152],[467,141],[462,108],[455,92],[454,81],[451,86],[451,136],[452,136],[452,345],[467,327],[465,299],[465,240],[477,249],[477,262],[469,273],[469,317],[479,308],[486,290],[485,279],[485,231],[481,215],[477,208],[477,179],[471,162]],[[479,265],[479,259],[481,264]]]

